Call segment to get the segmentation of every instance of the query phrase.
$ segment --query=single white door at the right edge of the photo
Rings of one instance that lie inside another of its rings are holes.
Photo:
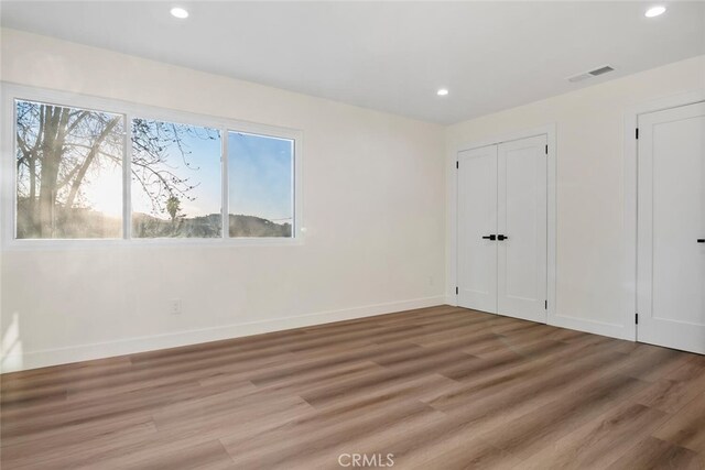
[[[705,103],[639,117],[639,341],[705,353]]]

